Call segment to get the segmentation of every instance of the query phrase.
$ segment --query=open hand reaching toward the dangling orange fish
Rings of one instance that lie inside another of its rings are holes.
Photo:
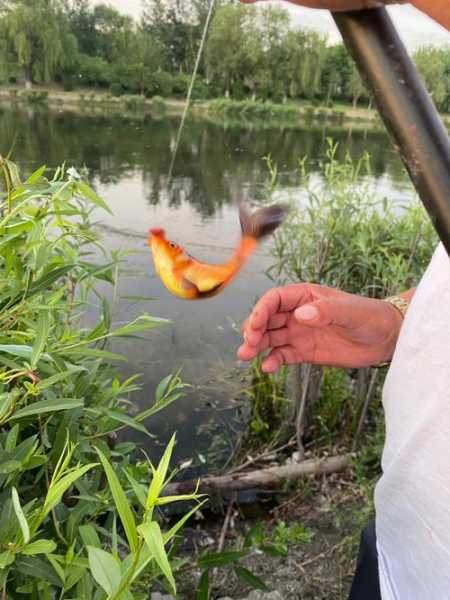
[[[243,324],[241,360],[269,350],[263,371],[283,364],[367,367],[392,358],[403,318],[388,302],[301,283],[264,294]]]

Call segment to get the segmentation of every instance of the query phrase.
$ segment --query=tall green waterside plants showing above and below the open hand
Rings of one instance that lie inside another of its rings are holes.
[[[339,162],[336,150],[328,140],[319,181],[311,177],[308,161],[300,161],[299,185],[305,193],[301,199],[291,200],[290,216],[275,234],[269,276],[278,285],[314,282],[371,298],[415,286],[437,243],[425,210],[419,202],[393,205],[369,183],[368,155],[358,161],[347,156]],[[277,173],[270,161],[269,168],[270,195],[277,188]],[[253,382],[257,368],[256,364]],[[384,372],[373,369],[294,369],[297,403],[308,385],[303,438],[316,446],[319,442],[351,446],[361,416],[375,426],[375,412],[371,416],[369,411],[367,416],[366,410],[370,402],[379,410],[376,400],[383,378]],[[266,379],[260,373],[259,380],[270,387]],[[260,394],[258,415],[279,410],[279,400],[276,406],[273,403],[271,393]],[[267,437],[271,421],[259,428]]]

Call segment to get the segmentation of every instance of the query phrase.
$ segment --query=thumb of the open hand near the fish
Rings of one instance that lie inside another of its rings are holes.
[[[300,306],[294,312],[295,319],[308,327],[350,327],[352,316],[351,304],[342,300],[316,300]]]

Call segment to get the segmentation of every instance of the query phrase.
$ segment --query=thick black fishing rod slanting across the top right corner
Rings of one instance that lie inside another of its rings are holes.
[[[333,13],[450,256],[450,139],[385,8]]]

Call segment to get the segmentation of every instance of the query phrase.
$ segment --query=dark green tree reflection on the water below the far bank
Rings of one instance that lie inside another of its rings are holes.
[[[338,158],[347,152],[372,157],[375,180],[388,177],[391,185],[405,182],[402,164],[383,131],[364,131],[329,125],[287,126],[267,122],[187,123],[168,187],[168,168],[178,117],[149,114],[83,114],[17,105],[0,107],[1,151],[13,142],[14,157],[28,169],[37,163],[54,167],[62,160],[86,165],[101,184],[118,184],[139,174],[146,201],[157,205],[168,199],[178,208],[188,202],[203,216],[236,200],[243,189],[251,194],[267,177],[264,157],[271,156],[284,186],[297,185],[299,158],[308,156],[313,169],[326,149],[327,137],[339,142]]]

